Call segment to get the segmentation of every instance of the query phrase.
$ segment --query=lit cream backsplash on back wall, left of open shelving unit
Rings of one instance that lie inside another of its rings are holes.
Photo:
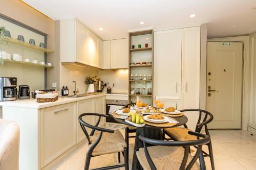
[[[115,87],[112,88],[112,92],[128,92],[128,69],[120,69],[120,70],[103,70],[99,71],[98,77],[104,83],[109,82],[112,86],[115,83]],[[106,91],[104,88],[103,91]]]

